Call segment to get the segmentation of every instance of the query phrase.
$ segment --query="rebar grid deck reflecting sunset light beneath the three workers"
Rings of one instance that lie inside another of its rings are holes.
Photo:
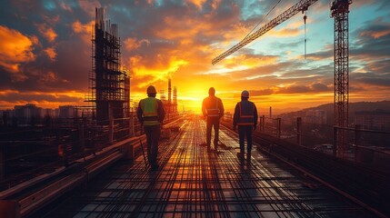
[[[120,163],[95,178],[46,217],[362,217],[350,203],[290,166],[253,152],[250,163],[236,156],[235,134],[220,131],[223,144],[207,153],[205,122],[186,121],[160,144],[160,169],[143,157]]]

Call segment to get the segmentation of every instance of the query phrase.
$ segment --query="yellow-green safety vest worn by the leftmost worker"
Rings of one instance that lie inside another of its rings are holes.
[[[158,122],[158,104],[157,99],[154,97],[148,97],[142,99],[141,102],[142,109],[142,120],[144,125],[157,125]]]

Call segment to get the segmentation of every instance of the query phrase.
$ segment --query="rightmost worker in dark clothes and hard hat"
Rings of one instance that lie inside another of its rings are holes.
[[[233,130],[238,125],[238,135],[240,142],[240,153],[237,154],[240,160],[244,159],[245,136],[246,136],[246,160],[250,163],[252,151],[252,131],[257,126],[257,108],[253,102],[248,101],[249,92],[244,90],[241,93],[241,102],[235,105],[235,114],[233,116]]]

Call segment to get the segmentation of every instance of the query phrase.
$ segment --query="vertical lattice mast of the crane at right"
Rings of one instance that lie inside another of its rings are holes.
[[[335,147],[336,155],[344,158],[347,152],[348,126],[348,13],[352,0],[335,0],[331,7],[331,17],[335,18]]]

